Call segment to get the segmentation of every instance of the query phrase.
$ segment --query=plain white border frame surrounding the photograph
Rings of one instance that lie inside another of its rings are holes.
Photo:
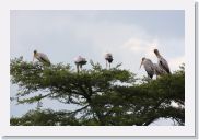
[[[185,10],[185,126],[10,126],[10,10]],[[192,0],[7,0],[0,2],[0,132],[3,136],[196,136]]]

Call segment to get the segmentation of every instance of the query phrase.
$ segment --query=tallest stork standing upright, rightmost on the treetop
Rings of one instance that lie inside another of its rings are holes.
[[[167,61],[160,55],[160,52],[159,52],[157,49],[154,49],[154,54],[155,54],[156,57],[157,57],[157,65],[159,65],[163,70],[165,70],[166,73],[171,73]]]

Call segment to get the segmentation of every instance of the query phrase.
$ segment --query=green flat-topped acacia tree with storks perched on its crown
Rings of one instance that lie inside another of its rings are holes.
[[[138,83],[136,75],[120,69],[120,65],[108,70],[91,65],[92,69],[77,73],[70,65],[47,67],[23,58],[12,59],[11,82],[20,88],[13,98],[19,104],[49,98],[77,107],[59,112],[37,107],[22,117],[12,117],[11,125],[148,126],[161,117],[185,124],[184,69]]]

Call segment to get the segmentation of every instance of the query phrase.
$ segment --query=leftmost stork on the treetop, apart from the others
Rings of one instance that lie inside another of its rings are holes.
[[[50,66],[50,60],[48,59],[47,55],[43,52],[37,52],[37,50],[34,50],[33,62],[34,62],[34,58],[36,58],[38,61],[43,62],[44,65]]]

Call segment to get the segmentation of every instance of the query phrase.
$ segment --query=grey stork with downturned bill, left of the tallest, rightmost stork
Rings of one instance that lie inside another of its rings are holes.
[[[145,57],[142,58],[142,61],[141,61],[141,65],[140,65],[140,68],[144,67],[147,73],[148,73],[148,77],[150,77],[151,79],[153,78],[154,75],[154,66],[153,66],[153,62],[150,60],[150,59],[147,59]]]

